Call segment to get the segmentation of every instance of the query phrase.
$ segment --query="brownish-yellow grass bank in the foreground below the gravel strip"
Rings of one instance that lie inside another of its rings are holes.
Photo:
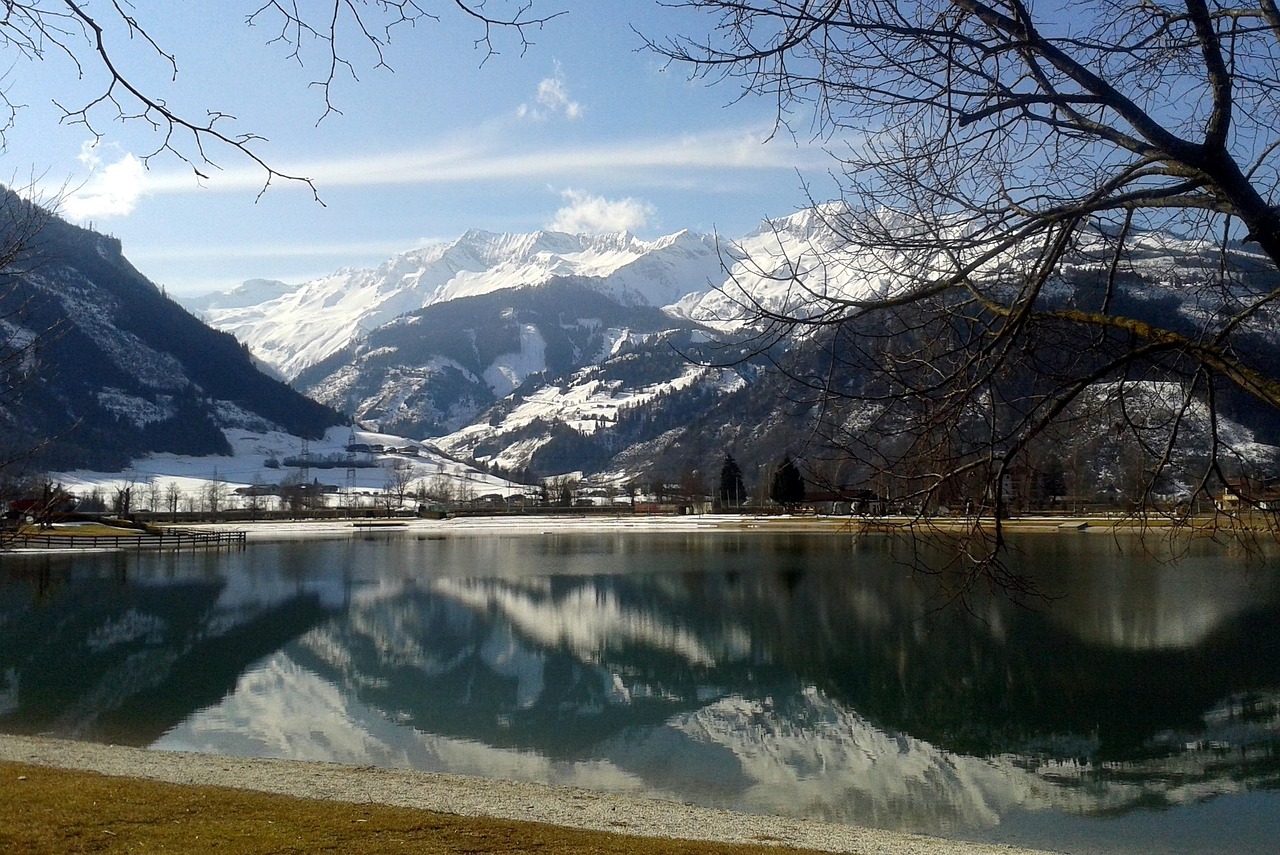
[[[776,855],[804,850],[628,837],[0,763],[0,851]]]

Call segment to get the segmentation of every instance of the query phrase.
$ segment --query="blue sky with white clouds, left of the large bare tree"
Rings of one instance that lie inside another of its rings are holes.
[[[54,54],[17,60],[6,86],[24,106],[6,138],[8,179],[36,179],[46,195],[65,187],[64,216],[119,237],[131,261],[174,293],[256,276],[302,282],[468,228],[739,237],[803,207],[801,175],[820,186],[829,166],[808,138],[768,141],[776,105],[767,99],[691,81],[640,50],[632,28],[662,37],[690,26],[687,12],[653,0],[536,0],[535,12],[566,14],[534,31],[524,52],[512,33],[495,33],[500,52],[488,60],[474,47],[476,27],[439,4],[439,20],[393,31],[394,72],[349,42],[360,81],[339,81],[342,114],[319,124],[324,102],[308,83],[324,72],[321,54],[305,54],[300,68],[268,44],[269,27],[246,27],[261,3],[134,5],[178,74],[170,82],[141,38],[109,32],[128,72],[189,114],[234,114],[237,131],[266,137],[256,146],[264,159],[311,177],[324,201],[287,183],[259,196],[262,172],[225,150],[210,151],[221,169],[206,169],[207,180],[170,155],[143,166],[156,136],[105,111],[91,147],[88,131],[60,124],[51,101],[97,95],[92,69],[78,79]]]

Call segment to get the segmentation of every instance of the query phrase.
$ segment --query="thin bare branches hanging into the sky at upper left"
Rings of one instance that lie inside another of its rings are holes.
[[[137,9],[122,0],[6,0],[0,9],[0,50],[27,61],[70,60],[76,76],[92,88],[81,100],[55,101],[63,122],[83,125],[96,138],[114,122],[150,127],[156,142],[141,157],[143,163],[173,155],[204,178],[218,169],[219,151],[230,151],[262,169],[264,191],[273,180],[285,179],[316,192],[307,177],[274,168],[260,152],[265,140],[238,128],[232,113],[209,106],[192,114],[173,106],[168,90],[155,81],[177,81],[179,58],[154,32],[160,17],[182,13],[156,9]],[[529,0],[257,0],[247,9],[228,9],[228,22],[238,19],[265,33],[288,60],[317,69],[312,86],[320,92],[321,120],[340,111],[333,99],[340,78],[357,79],[366,68],[390,68],[388,47],[398,31],[425,26],[442,14],[461,14],[475,26],[475,46],[484,61],[499,51],[499,42],[509,40],[524,50],[558,14],[538,14]],[[129,56],[129,51],[136,54]],[[56,90],[56,81],[50,84]],[[19,113],[20,105],[0,84],[0,140]]]

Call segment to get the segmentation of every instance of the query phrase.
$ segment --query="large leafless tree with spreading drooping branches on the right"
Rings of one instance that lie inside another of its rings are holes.
[[[755,271],[787,298],[735,296],[762,349],[823,348],[788,370],[865,477],[997,547],[1053,431],[1126,435],[1143,509],[1233,477],[1225,411],[1280,407],[1274,0],[672,5],[712,26],[652,47],[833,154],[820,248]]]

